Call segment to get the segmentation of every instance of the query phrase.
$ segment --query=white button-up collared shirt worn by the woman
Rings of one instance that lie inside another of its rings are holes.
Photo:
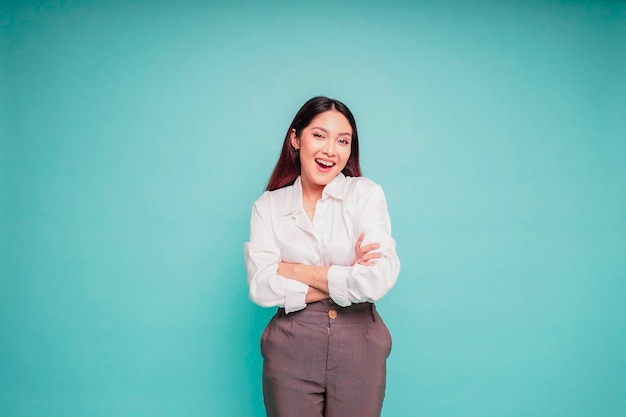
[[[361,232],[363,245],[381,245],[376,265],[352,265]],[[300,177],[291,186],[264,192],[252,208],[244,258],[252,301],[287,313],[306,307],[308,285],[278,275],[281,261],[330,267],[330,298],[344,307],[379,300],[400,272],[382,188],[341,173],[324,187],[313,221],[302,207]]]

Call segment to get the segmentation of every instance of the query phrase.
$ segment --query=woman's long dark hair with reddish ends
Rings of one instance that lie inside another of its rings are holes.
[[[348,119],[352,127],[350,158],[348,158],[348,162],[341,172],[349,177],[361,176],[361,165],[359,164],[359,135],[357,134],[356,121],[354,120],[352,112],[339,100],[318,96],[304,103],[300,110],[298,110],[298,113],[296,113],[296,117],[293,118],[291,125],[289,125],[285,140],[283,141],[283,149],[280,152],[274,171],[272,171],[272,175],[267,182],[266,190],[273,191],[286,187],[293,184],[296,178],[298,178],[301,169],[300,155],[291,146],[291,131],[295,129],[296,136],[299,137],[302,134],[302,129],[307,127],[315,116],[329,110],[336,110],[346,116],[346,119]]]

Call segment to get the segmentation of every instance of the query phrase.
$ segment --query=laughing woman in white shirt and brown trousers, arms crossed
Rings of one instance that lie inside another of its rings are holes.
[[[267,415],[380,416],[391,336],[373,303],[400,262],[343,103],[314,97],[291,122],[245,261],[250,298],[279,307],[261,336]]]

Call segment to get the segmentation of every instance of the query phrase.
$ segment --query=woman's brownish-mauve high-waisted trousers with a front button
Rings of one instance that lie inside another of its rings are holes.
[[[267,416],[380,416],[390,351],[374,304],[279,309],[261,335]]]

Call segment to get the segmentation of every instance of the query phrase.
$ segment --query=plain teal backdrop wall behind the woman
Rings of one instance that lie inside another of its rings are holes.
[[[626,415],[626,3],[1,10],[3,417],[264,415],[242,245],[318,94],[402,261],[384,416]]]

